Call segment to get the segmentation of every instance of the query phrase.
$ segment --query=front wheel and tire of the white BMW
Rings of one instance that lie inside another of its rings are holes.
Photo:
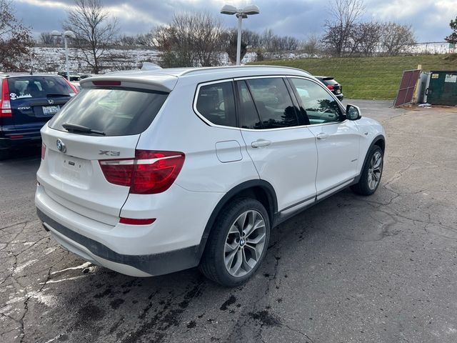
[[[366,164],[363,166],[358,183],[351,186],[352,191],[360,195],[371,195],[376,192],[381,183],[383,162],[383,151],[379,146],[373,146],[368,151]]]

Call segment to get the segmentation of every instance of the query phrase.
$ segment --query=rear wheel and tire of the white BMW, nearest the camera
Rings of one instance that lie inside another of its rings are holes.
[[[260,266],[270,239],[270,221],[256,199],[235,199],[219,214],[200,270],[226,287],[244,284]]]

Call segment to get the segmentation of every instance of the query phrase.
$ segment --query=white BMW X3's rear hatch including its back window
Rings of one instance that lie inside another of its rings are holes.
[[[134,158],[141,132],[167,96],[166,91],[123,88],[121,82],[82,89],[41,130],[46,149],[38,179],[46,194],[85,217],[116,224],[129,187],[108,182],[100,162]]]

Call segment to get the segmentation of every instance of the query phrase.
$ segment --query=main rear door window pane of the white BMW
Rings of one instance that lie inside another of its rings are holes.
[[[246,80],[263,129],[298,126],[298,117],[282,78]]]

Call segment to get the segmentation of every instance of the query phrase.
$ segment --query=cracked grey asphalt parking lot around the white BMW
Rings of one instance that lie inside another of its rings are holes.
[[[236,289],[84,262],[36,217],[39,151],[1,161],[0,342],[457,342],[457,108],[354,103],[386,128],[378,192],[281,224]]]

